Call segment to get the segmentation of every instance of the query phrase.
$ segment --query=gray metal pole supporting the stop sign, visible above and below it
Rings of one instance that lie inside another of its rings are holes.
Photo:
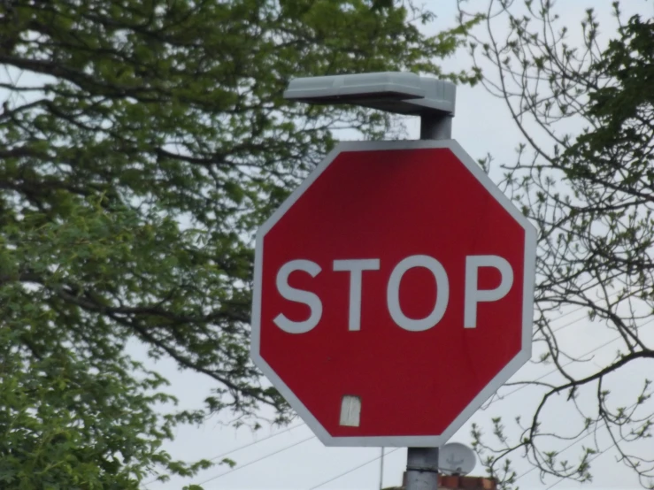
[[[420,140],[451,137],[451,114],[428,112],[420,116]],[[407,448],[406,490],[438,490],[438,448]]]

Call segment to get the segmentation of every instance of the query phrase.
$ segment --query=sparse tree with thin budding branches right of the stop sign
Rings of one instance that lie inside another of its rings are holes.
[[[480,15],[465,8],[459,2],[462,20]],[[485,33],[471,39],[482,84],[524,137],[517,161],[501,165],[503,188],[539,230],[536,362],[558,371],[553,382],[517,383],[539,390],[533,413],[493,419],[491,436],[473,428],[481,460],[505,488],[519,483],[512,457],[527,456],[542,478],[587,481],[593,459],[610,448],[642,486],[654,483],[642,445],[654,417],[654,349],[643,328],[654,314],[654,20],[625,19],[617,3],[614,10],[619,29],[607,45],[589,10],[575,48],[549,0],[491,0],[481,13]],[[582,130],[572,133],[575,125]],[[587,311],[598,334],[614,332],[608,364],[566,353],[552,322],[570,307]],[[627,369],[640,383],[631,399],[612,395]],[[564,402],[565,426],[546,417]]]

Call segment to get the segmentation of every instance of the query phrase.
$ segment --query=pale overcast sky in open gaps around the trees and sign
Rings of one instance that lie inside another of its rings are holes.
[[[428,27],[429,32],[437,32],[443,27],[451,26],[455,16],[454,0],[440,0],[437,11],[439,18]],[[471,7],[475,4],[482,6],[486,0],[473,0],[469,3]],[[610,0],[579,1],[559,0],[558,11],[566,19],[566,23],[572,30],[578,27],[578,20],[589,6],[593,6],[601,22],[601,31],[612,34],[615,30],[615,21],[611,15]],[[641,12],[650,15],[652,3],[641,0],[626,0],[623,2],[623,11],[628,15],[630,12]],[[604,37],[605,39],[605,37]],[[465,56],[459,56],[443,63],[447,69],[460,69],[465,67],[469,60]],[[409,139],[417,139],[419,124],[417,120],[407,122]],[[474,157],[483,157],[487,153],[496,157],[497,161],[512,161],[513,150],[519,142],[520,135],[517,128],[512,125],[508,112],[503,102],[489,96],[483,88],[458,88],[457,113],[454,119],[453,136],[462,144],[468,153]],[[559,342],[572,353],[581,355],[592,352],[592,359],[588,364],[581,364],[573,372],[584,372],[596,370],[597,366],[603,365],[613,358],[618,344],[611,343],[616,335],[607,329],[597,329],[596,325],[590,325],[585,319],[582,311],[571,312],[565,318],[560,318],[555,326],[561,328],[558,333]],[[654,341],[654,325],[642,331],[643,340]],[[144,355],[144,351],[143,351]],[[212,388],[212,381],[200,374],[191,372],[179,372],[172,362],[160,362],[156,367],[162,374],[171,380],[171,390],[180,399],[183,407],[197,408],[201,406],[204,397]],[[446,369],[446,367],[444,367]],[[635,393],[639,385],[633,379],[642,379],[642,371],[646,364],[631,364],[626,371],[621,371],[618,379],[612,379],[613,389],[618,390],[615,396]],[[527,365],[516,375],[515,379],[528,379],[529,377],[541,376],[551,370],[550,366]],[[651,371],[651,367],[650,367]],[[556,379],[556,374],[550,379]],[[319,382],[317,380],[317,382]],[[519,390],[516,393],[514,387],[504,388],[502,393],[508,394],[503,400],[492,403],[488,410],[480,411],[473,417],[477,423],[488,427],[490,417],[502,416],[506,419],[519,414],[529,416],[535,403],[538,402],[538,393],[533,388]],[[511,393],[511,394],[510,394]],[[583,399],[582,399],[583,401]],[[560,410],[559,410],[560,409]],[[568,408],[569,410],[569,408]],[[551,410],[548,410],[545,419],[561,431],[567,428],[570,412],[566,405],[554,403]],[[204,471],[194,483],[204,484],[207,490],[219,490],[227,488],[239,489],[266,489],[266,488],[288,488],[288,489],[310,489],[319,486],[327,480],[333,481],[320,486],[321,488],[348,488],[373,490],[379,487],[379,448],[325,448],[317,439],[312,437],[311,431],[296,421],[296,428],[276,429],[265,428],[253,434],[247,428],[238,431],[225,426],[227,417],[216,417],[207,422],[203,427],[182,427],[177,431],[176,440],[168,445],[168,450],[175,457],[186,460],[196,458],[212,458],[228,456],[234,459],[238,465],[235,471],[229,471],[227,467],[217,467]],[[279,435],[269,438],[273,433]],[[453,440],[470,443],[470,426],[465,425]],[[589,445],[591,439],[583,440],[575,447],[570,448],[571,457],[574,451],[583,445]],[[605,438],[604,438],[605,439]],[[252,444],[254,443],[254,444]],[[247,448],[242,446],[249,445]],[[608,440],[599,440],[600,448],[609,448]],[[288,449],[287,449],[288,448]],[[275,454],[278,452],[278,454]],[[406,450],[404,448],[387,450],[389,454],[385,458],[384,486],[398,485],[402,478],[404,465],[406,463]],[[391,452],[392,451],[392,452]],[[652,443],[642,445],[643,454],[654,457]],[[567,453],[566,453],[567,454]],[[263,458],[256,463],[259,458]],[[520,462],[519,458],[512,458],[516,463],[518,474],[531,469],[527,463]],[[357,466],[368,463],[358,470],[339,475],[350,471]],[[632,471],[628,471],[621,463],[616,462],[615,451],[608,450],[593,463],[593,474],[595,480],[586,484],[589,488],[636,488],[637,479]],[[473,474],[483,474],[481,466],[478,466]],[[556,483],[557,479],[547,479],[543,484],[538,476],[538,471],[530,471],[519,479],[519,486],[523,489],[547,488]],[[178,490],[182,485],[189,484],[189,481],[182,482],[180,479],[173,479],[166,484],[152,483],[149,490]],[[576,484],[567,481],[556,486],[557,489],[577,488]]]

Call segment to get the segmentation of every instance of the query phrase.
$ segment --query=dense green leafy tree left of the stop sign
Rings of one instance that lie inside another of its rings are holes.
[[[397,127],[282,92],[440,74],[465,28],[420,34],[431,18],[410,0],[0,3],[0,486],[136,488],[208,464],[162,450],[175,424],[289,419],[249,360],[253,230],[332,131]],[[213,379],[206,407],[166,412],[135,342]]]

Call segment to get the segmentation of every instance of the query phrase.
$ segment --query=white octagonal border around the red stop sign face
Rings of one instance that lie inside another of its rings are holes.
[[[525,262],[524,262],[524,290],[523,290],[523,310],[522,310],[522,348],[517,356],[499,371],[495,378],[491,379],[489,384],[484,387],[473,401],[470,402],[457,418],[447,427],[442,434],[425,435],[425,436],[360,436],[360,437],[334,437],[327,433],[327,430],[319,423],[316,417],[307,410],[304,403],[296,397],[290,388],[277,375],[273,368],[265,362],[260,356],[260,333],[261,333],[261,288],[264,250],[263,242],[265,234],[281,219],[281,217],[296,203],[297,199],[311,187],[314,180],[318,179],[320,174],[335,160],[342,152],[352,151],[379,151],[392,149],[450,149],[451,152],[465,165],[465,168],[473,174],[473,177],[489,191],[498,203],[502,205],[525,230]],[[296,190],[289,195],[286,201],[281,204],[279,209],[268,218],[264,225],[261,226],[257,233],[255,246],[255,264],[254,264],[254,291],[252,298],[252,332],[250,343],[250,356],[254,364],[263,371],[265,376],[271,380],[273,386],[279,390],[281,395],[289,402],[290,406],[296,410],[297,414],[304,420],[313,433],[318,436],[319,440],[325,446],[335,447],[385,447],[385,448],[437,448],[443,446],[454,433],[461,428],[465,422],[473,416],[474,412],[481,408],[492,394],[504,385],[508,379],[515,374],[523,364],[527,363],[531,357],[532,346],[532,329],[534,315],[534,285],[535,285],[535,256],[536,256],[536,230],[535,226],[525,217],[506,197],[502,191],[497,188],[495,183],[489,179],[489,176],[481,169],[465,149],[458,144],[456,140],[419,140],[419,141],[396,141],[396,142],[341,142],[335,149],[327,154],[322,162],[309,174],[309,176],[300,184]]]

